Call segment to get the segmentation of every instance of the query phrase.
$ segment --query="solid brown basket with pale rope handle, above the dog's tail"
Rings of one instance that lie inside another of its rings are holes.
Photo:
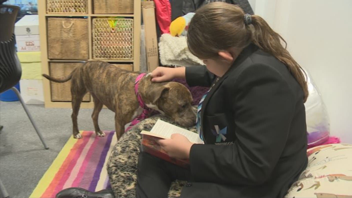
[[[88,19],[48,18],[49,59],[89,59]]]

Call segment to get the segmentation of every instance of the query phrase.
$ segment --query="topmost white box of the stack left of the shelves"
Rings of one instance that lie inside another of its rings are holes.
[[[39,18],[38,15],[25,15],[15,23],[15,35],[38,35]]]

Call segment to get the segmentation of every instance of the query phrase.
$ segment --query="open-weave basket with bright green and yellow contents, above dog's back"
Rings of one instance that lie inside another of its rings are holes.
[[[116,24],[111,28],[109,20]],[[93,59],[133,59],[133,19],[93,19]]]

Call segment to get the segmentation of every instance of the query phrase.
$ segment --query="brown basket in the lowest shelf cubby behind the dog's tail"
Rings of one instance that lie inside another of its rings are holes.
[[[50,62],[50,75],[54,78],[65,78],[75,67],[82,65],[83,62]],[[71,98],[71,80],[65,83],[55,83],[50,81],[51,101],[70,102]],[[90,94],[83,97],[83,102],[90,101]]]

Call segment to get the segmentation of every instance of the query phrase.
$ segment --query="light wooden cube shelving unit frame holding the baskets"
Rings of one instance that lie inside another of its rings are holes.
[[[49,74],[50,62],[82,62],[93,59],[93,43],[92,43],[92,19],[94,17],[128,17],[133,18],[133,59],[132,60],[102,60],[111,63],[133,64],[133,71],[139,71],[140,65],[140,27],[141,27],[141,0],[134,0],[133,14],[94,14],[93,0],[88,0],[88,13],[47,13],[46,0],[38,1],[38,15],[39,15],[39,34],[40,34],[40,48],[42,60],[42,73]],[[88,34],[89,34],[89,59],[87,60],[67,60],[67,59],[48,59],[48,38],[47,38],[47,19],[49,17],[87,17],[88,18]],[[100,60],[100,59],[99,59]],[[51,86],[50,81],[43,78],[43,91],[45,108],[71,108],[71,102],[54,102],[51,100]],[[81,108],[93,108],[93,98],[90,102],[82,102]]]

